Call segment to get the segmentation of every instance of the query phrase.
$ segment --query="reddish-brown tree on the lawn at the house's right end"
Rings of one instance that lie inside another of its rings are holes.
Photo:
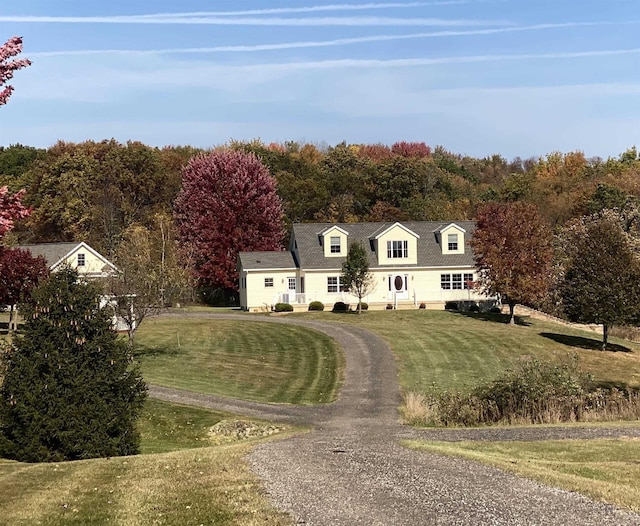
[[[553,237],[529,203],[488,203],[478,209],[473,247],[478,284],[499,294],[514,321],[517,303],[535,303],[549,285]]]

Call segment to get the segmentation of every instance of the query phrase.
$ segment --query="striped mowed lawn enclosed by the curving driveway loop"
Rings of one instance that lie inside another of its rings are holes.
[[[150,318],[136,342],[150,383],[263,402],[331,402],[344,367],[324,334],[250,318]]]

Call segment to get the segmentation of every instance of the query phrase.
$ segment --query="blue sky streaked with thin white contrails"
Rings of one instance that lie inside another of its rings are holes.
[[[20,0],[0,145],[640,146],[637,0]]]

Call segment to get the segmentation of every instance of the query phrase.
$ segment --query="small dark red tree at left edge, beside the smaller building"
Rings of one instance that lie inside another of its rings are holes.
[[[13,311],[31,290],[49,275],[42,256],[33,257],[28,250],[0,247],[0,305],[9,306],[9,330],[13,327]]]

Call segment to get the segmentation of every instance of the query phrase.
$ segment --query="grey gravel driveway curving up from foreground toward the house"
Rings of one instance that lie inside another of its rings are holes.
[[[233,315],[167,316],[228,319]],[[334,338],[346,359],[338,401],[322,407],[274,406],[158,387],[150,392],[166,400],[313,425],[311,433],[259,445],[248,459],[264,480],[274,504],[289,512],[298,524],[640,525],[638,514],[575,493],[474,462],[400,446],[401,439],[426,438],[431,432],[399,423],[395,361],[385,342],[374,334],[344,324],[300,318],[234,317],[246,323],[294,323]],[[444,440],[448,432],[434,431],[439,440]],[[496,431],[500,439],[512,432]],[[630,432],[631,428],[625,428],[621,434]],[[594,431],[589,436],[598,434]],[[491,435],[491,439],[497,436]],[[543,438],[544,433],[538,436]],[[452,434],[451,439],[474,437],[469,433],[460,438]]]

